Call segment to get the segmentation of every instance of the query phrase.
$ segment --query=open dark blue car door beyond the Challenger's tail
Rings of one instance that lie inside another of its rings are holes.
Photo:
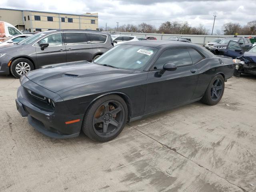
[[[233,59],[240,57],[244,52],[240,44],[236,41],[228,42],[226,49],[222,50],[222,54],[227,57],[232,57]]]

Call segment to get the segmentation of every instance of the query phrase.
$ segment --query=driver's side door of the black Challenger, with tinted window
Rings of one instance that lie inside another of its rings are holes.
[[[198,81],[198,70],[192,63],[189,48],[165,50],[148,72],[145,114],[190,101]],[[164,64],[177,66],[165,71]]]

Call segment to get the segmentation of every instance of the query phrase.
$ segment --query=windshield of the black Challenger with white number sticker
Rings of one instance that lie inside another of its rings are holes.
[[[148,61],[156,54],[157,48],[117,45],[100,56],[94,62],[100,65],[109,65],[125,70],[143,70]]]

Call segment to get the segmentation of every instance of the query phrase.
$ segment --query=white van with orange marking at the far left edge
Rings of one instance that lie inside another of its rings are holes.
[[[0,21],[0,41],[4,41],[6,38],[13,35],[20,35],[22,32],[14,27],[12,24]]]

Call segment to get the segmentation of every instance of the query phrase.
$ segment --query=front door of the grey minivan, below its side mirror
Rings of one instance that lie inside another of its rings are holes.
[[[42,43],[48,43],[49,46],[42,50],[40,47]],[[62,33],[50,34],[42,38],[34,46],[36,46],[37,68],[66,62],[66,48]]]

